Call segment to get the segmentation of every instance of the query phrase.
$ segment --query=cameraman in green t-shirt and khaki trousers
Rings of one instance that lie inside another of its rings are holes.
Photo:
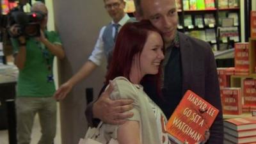
[[[36,2],[31,12],[44,17],[40,20],[40,36],[26,36],[20,24],[10,28],[15,65],[19,68],[17,82],[17,140],[29,144],[35,114],[38,113],[42,129],[39,144],[52,144],[56,135],[56,100],[52,76],[54,56],[62,59],[65,53],[57,33],[47,31],[47,8]],[[27,29],[29,31],[29,28]]]

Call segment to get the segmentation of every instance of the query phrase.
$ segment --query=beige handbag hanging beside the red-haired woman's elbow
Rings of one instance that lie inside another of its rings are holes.
[[[113,138],[109,138],[110,140],[107,140],[109,136],[105,136],[107,133],[104,132],[102,124],[103,122],[100,122],[97,128],[89,127],[84,139],[81,138],[78,144],[118,144],[118,141]]]

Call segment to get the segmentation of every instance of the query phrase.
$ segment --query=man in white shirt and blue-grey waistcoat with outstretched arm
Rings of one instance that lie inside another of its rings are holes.
[[[106,55],[106,58],[109,57],[115,45],[115,37],[118,30],[130,20],[127,13],[124,12],[124,0],[104,0],[104,4],[112,21],[107,26],[100,29],[99,38],[88,61],[86,61],[83,67],[74,76],[68,79],[66,83],[62,84],[56,93],[54,93],[54,97],[58,100],[64,99],[75,84],[82,79],[86,79],[86,77],[100,65],[104,54]]]

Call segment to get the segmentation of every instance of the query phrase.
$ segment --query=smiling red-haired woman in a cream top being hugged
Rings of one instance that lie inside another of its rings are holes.
[[[170,143],[164,131],[166,118],[160,108],[143,91],[141,81],[160,81],[164,59],[163,39],[150,22],[125,24],[113,51],[106,83],[113,84],[111,99],[133,99],[134,113],[124,124],[102,127],[119,144]],[[160,84],[159,84],[160,88]]]

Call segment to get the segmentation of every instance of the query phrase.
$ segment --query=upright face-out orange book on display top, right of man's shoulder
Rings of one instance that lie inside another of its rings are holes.
[[[249,70],[249,43],[235,44],[235,69]]]

